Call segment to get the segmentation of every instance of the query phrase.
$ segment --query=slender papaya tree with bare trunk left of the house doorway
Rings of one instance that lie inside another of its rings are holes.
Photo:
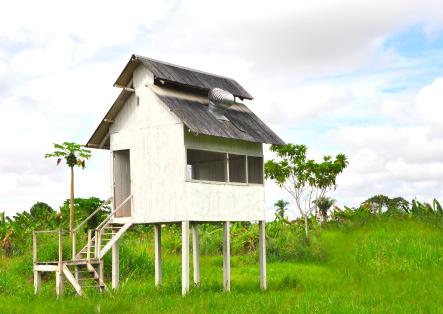
[[[57,165],[62,159],[71,169],[71,196],[69,206],[69,231],[72,234],[74,230],[74,167],[78,166],[85,168],[85,162],[91,157],[91,151],[85,149],[84,146],[71,142],[64,142],[63,144],[54,143],[54,152],[46,154],[45,158],[57,158]]]

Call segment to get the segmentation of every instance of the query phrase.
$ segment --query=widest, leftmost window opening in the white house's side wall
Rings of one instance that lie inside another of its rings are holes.
[[[188,149],[187,155],[188,179],[226,182],[226,154]]]

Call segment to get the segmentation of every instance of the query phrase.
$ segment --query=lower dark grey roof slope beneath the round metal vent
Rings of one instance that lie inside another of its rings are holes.
[[[248,142],[284,145],[266,124],[244,104],[235,104],[225,112],[229,121],[217,120],[198,101],[158,95],[183,123],[194,133],[244,140]]]

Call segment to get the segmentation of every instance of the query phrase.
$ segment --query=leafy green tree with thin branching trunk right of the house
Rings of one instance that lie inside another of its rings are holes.
[[[308,219],[317,206],[313,202],[335,189],[337,176],[348,165],[344,154],[335,159],[324,156],[323,161],[307,159],[305,145],[272,145],[271,151],[279,160],[268,160],[265,164],[266,179],[274,180],[283,187],[295,201],[295,205],[304,218],[305,234],[308,237]]]

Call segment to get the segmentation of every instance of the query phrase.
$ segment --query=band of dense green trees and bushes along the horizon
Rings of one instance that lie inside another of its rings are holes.
[[[103,200],[97,197],[75,199],[76,225],[83,221],[90,213],[97,209]],[[287,202],[279,200],[275,203],[275,219],[266,225],[268,255],[276,259],[303,259],[304,254],[312,252],[305,250],[309,245],[304,233],[304,219],[289,220],[286,211]],[[93,219],[88,221],[82,230],[86,237],[88,229],[94,229],[110,212],[105,206]],[[394,219],[409,218],[443,218],[443,209],[437,200],[431,204],[417,200],[407,201],[404,198],[389,198],[384,195],[373,196],[364,201],[360,206],[339,208],[329,200],[319,204],[319,210],[309,218],[309,228],[313,236],[330,226],[351,226],[365,223],[378,217],[394,217]],[[17,213],[12,217],[0,214],[0,254],[3,256],[30,254],[32,251],[33,230],[68,229],[69,226],[69,200],[66,200],[59,210],[54,210],[48,204],[37,202],[29,211]],[[180,225],[167,226],[167,233],[163,239],[164,249],[170,253],[181,250]],[[219,254],[222,251],[222,226],[221,224],[202,224],[201,251],[203,254]],[[152,236],[150,226],[136,226],[128,236],[146,239]],[[258,226],[254,223],[232,223],[231,251],[233,254],[254,252],[258,245]],[[66,245],[68,245],[66,243]]]

